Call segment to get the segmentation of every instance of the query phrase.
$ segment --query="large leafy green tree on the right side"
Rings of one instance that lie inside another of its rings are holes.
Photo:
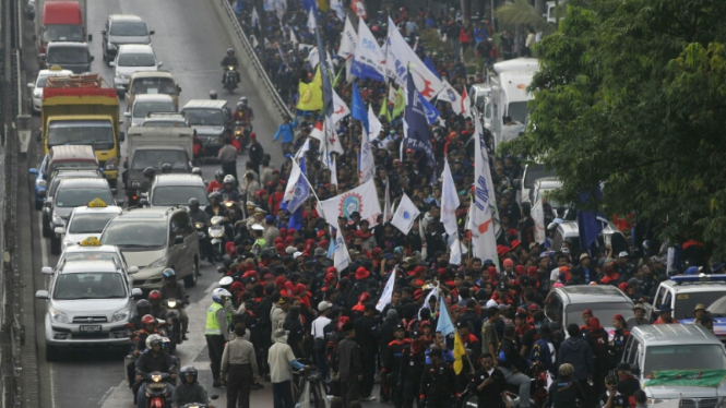
[[[726,2],[588,3],[538,44],[529,129],[504,148],[544,157],[559,200],[603,183],[607,214],[726,255]]]

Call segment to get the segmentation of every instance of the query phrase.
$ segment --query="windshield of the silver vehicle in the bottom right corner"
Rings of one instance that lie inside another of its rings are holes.
[[[647,347],[642,373],[650,377],[664,370],[726,370],[726,355],[721,345],[673,345]]]

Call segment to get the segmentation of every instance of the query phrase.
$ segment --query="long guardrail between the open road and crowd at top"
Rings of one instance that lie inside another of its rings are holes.
[[[260,62],[254,48],[249,41],[249,38],[242,27],[237,21],[237,15],[231,9],[228,0],[211,0],[215,10],[219,14],[219,17],[227,28],[229,35],[233,37],[234,49],[238,56],[239,63],[241,68],[245,68],[248,72],[257,73],[259,81],[252,81],[252,85],[255,87],[255,91],[260,95],[267,95],[270,97],[263,97],[262,100],[267,108],[269,112],[277,113],[275,119],[277,122],[282,122],[285,116],[295,117],[293,112],[287,108],[285,101],[277,93],[275,85],[270,81],[267,73],[264,70],[264,67]]]

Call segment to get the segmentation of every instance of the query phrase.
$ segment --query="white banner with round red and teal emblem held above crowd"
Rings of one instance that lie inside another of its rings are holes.
[[[376,183],[368,180],[361,185],[320,202],[328,224],[337,225],[337,217],[350,219],[350,214],[358,212],[361,219],[367,219],[370,226],[378,225],[381,215],[381,205],[378,203]]]

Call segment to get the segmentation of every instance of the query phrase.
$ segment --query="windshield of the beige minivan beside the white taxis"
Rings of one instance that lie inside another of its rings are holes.
[[[166,223],[111,221],[100,236],[104,245],[121,248],[160,248],[166,245]]]

